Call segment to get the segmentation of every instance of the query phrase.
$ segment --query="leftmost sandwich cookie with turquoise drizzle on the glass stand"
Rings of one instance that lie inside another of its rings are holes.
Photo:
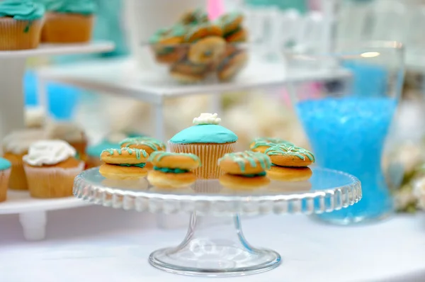
[[[145,168],[149,154],[135,148],[107,149],[101,154],[99,173],[107,179],[140,179],[147,175]]]

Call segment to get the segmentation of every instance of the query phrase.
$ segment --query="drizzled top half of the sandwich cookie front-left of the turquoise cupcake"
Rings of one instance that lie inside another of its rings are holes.
[[[200,167],[200,159],[195,154],[153,152],[149,157],[154,167],[193,170]]]

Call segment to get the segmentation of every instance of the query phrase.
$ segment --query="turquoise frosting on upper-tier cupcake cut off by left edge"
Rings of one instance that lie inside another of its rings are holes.
[[[35,21],[45,13],[41,4],[30,0],[0,1],[0,18],[11,17],[18,21]]]

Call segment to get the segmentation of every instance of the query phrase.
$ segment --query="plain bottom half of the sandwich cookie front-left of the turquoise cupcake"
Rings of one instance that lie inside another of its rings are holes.
[[[193,184],[196,176],[193,172],[167,173],[159,170],[149,171],[147,180],[158,188],[182,188]]]

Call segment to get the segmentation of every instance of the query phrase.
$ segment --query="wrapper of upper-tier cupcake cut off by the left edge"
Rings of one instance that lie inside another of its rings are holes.
[[[42,20],[0,18],[0,50],[35,49],[40,43]]]

